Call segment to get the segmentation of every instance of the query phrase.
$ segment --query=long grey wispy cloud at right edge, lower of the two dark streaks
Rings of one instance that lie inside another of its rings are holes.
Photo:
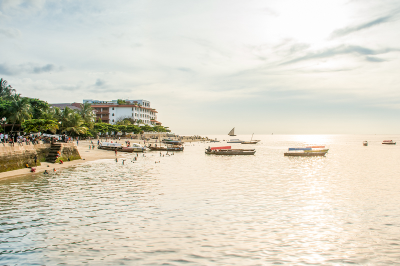
[[[293,64],[293,63],[297,63],[300,61],[306,61],[306,60],[311,60],[311,59],[329,58],[329,57],[333,57],[333,56],[341,55],[341,54],[376,55],[376,54],[382,54],[382,53],[398,51],[398,50],[399,49],[392,49],[392,48],[373,50],[373,49],[369,49],[369,48],[365,48],[365,47],[357,46],[357,45],[339,45],[339,46],[336,46],[333,48],[326,48],[324,50],[317,51],[317,52],[309,52],[304,56],[283,62],[280,65]],[[371,60],[368,60],[368,61],[371,61]],[[374,61],[374,62],[376,62],[376,61]]]

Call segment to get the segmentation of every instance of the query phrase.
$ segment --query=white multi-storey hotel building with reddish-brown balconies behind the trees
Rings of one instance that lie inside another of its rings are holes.
[[[142,120],[146,125],[161,125],[157,121],[157,111],[150,108],[150,102],[146,100],[125,100],[126,104],[119,104],[117,100],[99,101],[86,99],[83,103],[90,103],[91,108],[96,111],[96,120],[101,122],[115,124],[117,120],[131,118],[133,120]]]

